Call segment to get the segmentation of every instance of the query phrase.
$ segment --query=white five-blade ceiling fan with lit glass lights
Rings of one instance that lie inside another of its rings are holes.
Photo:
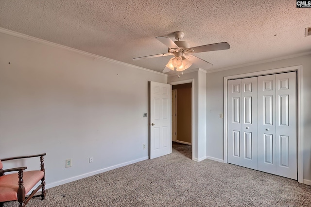
[[[193,54],[230,48],[230,45],[227,42],[214,43],[190,48],[188,42],[181,40],[185,36],[184,32],[174,32],[174,36],[177,40],[175,42],[173,42],[168,37],[155,37],[158,41],[160,41],[169,48],[168,53],[133,58],[133,61],[173,55],[174,57],[170,59],[168,64],[166,64],[163,73],[167,73],[171,70],[183,71],[189,68],[192,64],[196,64],[201,68],[209,68],[213,66],[213,64],[210,64],[207,61],[194,56]]]

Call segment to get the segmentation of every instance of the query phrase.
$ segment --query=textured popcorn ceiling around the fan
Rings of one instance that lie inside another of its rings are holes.
[[[175,31],[230,44],[196,54],[212,70],[311,51],[311,8],[295,0],[0,0],[0,27],[158,72],[171,56],[132,58],[166,53],[155,37]]]

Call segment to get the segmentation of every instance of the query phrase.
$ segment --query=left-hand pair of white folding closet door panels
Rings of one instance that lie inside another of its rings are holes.
[[[228,80],[228,108],[228,162],[257,170],[257,77]]]

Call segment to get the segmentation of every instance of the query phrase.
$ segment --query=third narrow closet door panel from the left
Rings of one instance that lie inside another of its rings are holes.
[[[258,77],[258,170],[276,174],[276,75]]]

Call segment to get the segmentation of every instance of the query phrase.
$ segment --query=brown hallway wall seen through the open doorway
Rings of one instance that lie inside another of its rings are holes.
[[[173,85],[177,90],[177,141],[191,143],[191,83]]]

